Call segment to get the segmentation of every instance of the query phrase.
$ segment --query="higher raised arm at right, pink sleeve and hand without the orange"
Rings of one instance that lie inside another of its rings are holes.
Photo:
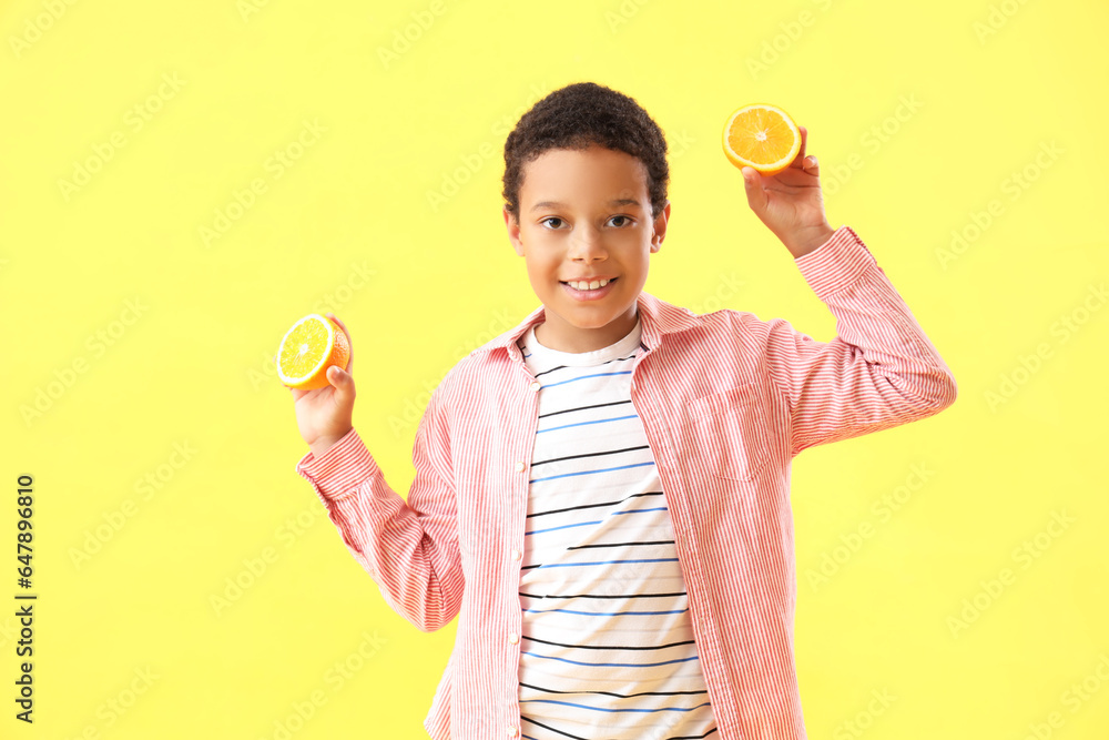
[[[775,318],[761,331],[767,372],[790,409],[794,455],[932,416],[955,403],[955,377],[866,245],[824,213],[820,164],[801,151],[774,175],[743,169],[747,205],[793,255],[836,317],[836,337],[815,342]]]

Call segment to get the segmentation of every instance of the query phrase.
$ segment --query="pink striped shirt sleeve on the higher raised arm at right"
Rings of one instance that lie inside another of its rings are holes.
[[[816,342],[782,318],[767,361],[790,408],[792,454],[932,416],[955,403],[955,376],[849,226],[794,260],[836,318]]]

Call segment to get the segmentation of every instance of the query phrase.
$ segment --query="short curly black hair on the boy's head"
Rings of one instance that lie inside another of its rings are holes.
[[[560,88],[520,116],[505,141],[505,190],[512,217],[520,220],[523,165],[551,149],[587,149],[599,144],[625,152],[647,168],[651,215],[667,203],[670,165],[662,129],[634,99],[596,82]]]

